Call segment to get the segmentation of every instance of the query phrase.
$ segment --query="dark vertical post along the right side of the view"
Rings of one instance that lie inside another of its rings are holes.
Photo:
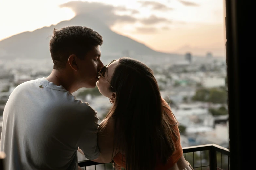
[[[252,0],[226,0],[226,54],[229,106],[230,169],[251,167],[254,135],[255,22]],[[248,135],[246,135],[246,133]]]

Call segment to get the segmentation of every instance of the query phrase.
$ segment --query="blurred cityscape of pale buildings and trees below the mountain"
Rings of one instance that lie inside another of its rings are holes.
[[[117,58],[117,56],[116,56]],[[153,71],[162,97],[170,103],[179,122],[182,147],[203,144],[217,144],[228,148],[228,111],[226,87],[226,60],[213,57],[133,56]],[[103,58],[105,63],[114,59]],[[9,95],[19,84],[47,77],[53,64],[49,60],[1,60],[0,62],[0,120]],[[77,100],[88,102],[104,119],[111,107],[109,100],[102,96],[97,87],[82,88],[72,95]],[[0,126],[2,122],[0,122]],[[84,157],[80,156],[80,160]]]

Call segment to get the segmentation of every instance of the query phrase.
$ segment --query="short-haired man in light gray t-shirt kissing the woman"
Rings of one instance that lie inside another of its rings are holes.
[[[96,112],[71,93],[95,87],[102,43],[87,27],[54,29],[51,75],[19,85],[6,103],[0,143],[6,170],[76,170],[78,146],[88,159],[100,158]]]

